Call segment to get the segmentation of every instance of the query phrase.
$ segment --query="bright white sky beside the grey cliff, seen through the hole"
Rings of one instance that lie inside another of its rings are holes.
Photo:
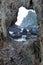
[[[34,12],[34,13],[36,13],[35,12],[35,10],[32,10],[32,9],[26,9],[25,7],[20,7],[19,8],[19,12],[18,12],[18,17],[17,17],[17,21],[16,21],[16,25],[18,25],[18,26],[20,26],[21,25],[21,23],[22,23],[22,21],[23,21],[23,19],[27,16],[27,14],[28,14],[28,12],[29,11],[32,11],[32,12]]]

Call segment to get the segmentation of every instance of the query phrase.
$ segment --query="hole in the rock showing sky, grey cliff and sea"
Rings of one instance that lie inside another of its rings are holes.
[[[8,31],[9,35],[15,41],[36,39],[39,32],[36,11],[21,6],[18,11],[16,23],[9,27]]]

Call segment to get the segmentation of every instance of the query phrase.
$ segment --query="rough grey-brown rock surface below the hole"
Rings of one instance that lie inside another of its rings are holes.
[[[0,50],[0,59],[3,60],[4,65],[34,65],[36,63],[39,65],[40,45],[36,39],[30,39],[26,42],[10,40],[7,39],[3,49]]]

